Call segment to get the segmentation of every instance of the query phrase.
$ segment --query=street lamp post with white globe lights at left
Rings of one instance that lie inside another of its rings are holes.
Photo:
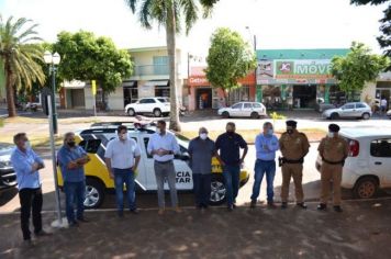
[[[48,65],[49,74],[52,75],[52,111],[53,111],[53,130],[54,134],[58,134],[57,126],[57,109],[56,109],[56,71],[57,65],[59,64],[62,57],[58,53],[52,54],[46,50],[44,54],[44,60]]]

